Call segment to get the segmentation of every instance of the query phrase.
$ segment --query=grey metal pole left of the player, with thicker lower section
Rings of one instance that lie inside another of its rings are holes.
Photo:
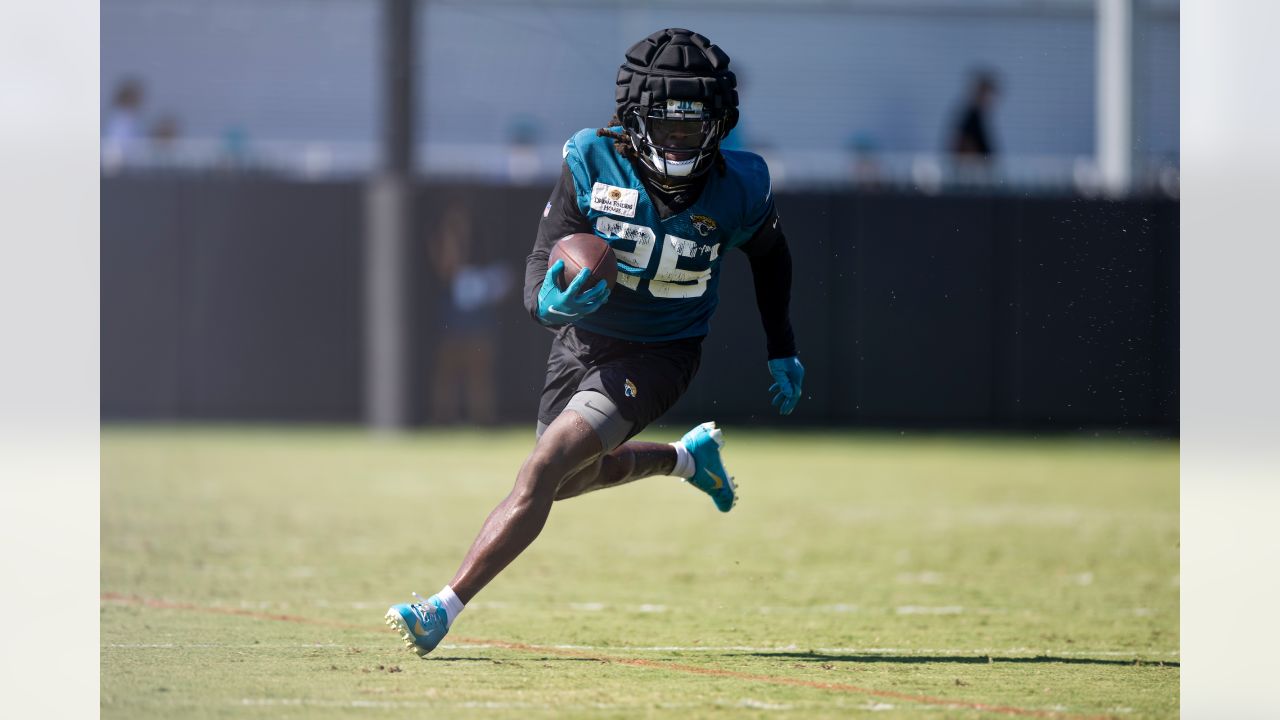
[[[408,425],[415,0],[383,3],[383,156],[365,193],[365,419]]]

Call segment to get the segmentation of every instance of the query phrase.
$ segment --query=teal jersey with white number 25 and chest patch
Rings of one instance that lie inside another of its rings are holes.
[[[698,200],[662,219],[613,142],[582,129],[564,143],[577,208],[618,259],[609,301],[575,324],[640,342],[704,336],[724,254],[749,241],[773,209],[769,169],[753,152],[721,150],[726,172],[709,170]]]

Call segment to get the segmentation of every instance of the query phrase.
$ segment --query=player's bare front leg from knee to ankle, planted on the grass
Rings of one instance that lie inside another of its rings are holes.
[[[668,448],[669,450],[669,448]],[[520,468],[516,486],[493,509],[449,587],[471,602],[543,530],[568,475],[599,460],[600,438],[577,413],[562,413]]]

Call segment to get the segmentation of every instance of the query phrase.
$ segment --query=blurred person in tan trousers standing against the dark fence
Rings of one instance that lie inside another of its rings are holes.
[[[439,234],[430,240],[440,290],[435,300],[440,334],[433,363],[431,421],[492,424],[497,420],[497,305],[512,287],[511,269],[471,263],[471,215],[463,205],[445,211]]]

